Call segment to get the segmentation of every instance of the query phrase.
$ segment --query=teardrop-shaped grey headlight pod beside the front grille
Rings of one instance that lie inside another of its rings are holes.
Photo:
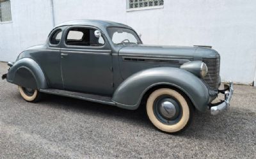
[[[180,66],[181,69],[193,73],[194,75],[204,79],[208,73],[208,68],[202,61],[191,61]]]

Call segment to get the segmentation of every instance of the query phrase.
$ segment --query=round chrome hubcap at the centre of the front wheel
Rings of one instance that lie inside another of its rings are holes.
[[[172,118],[176,114],[175,105],[172,102],[164,101],[159,107],[160,113],[163,117]]]

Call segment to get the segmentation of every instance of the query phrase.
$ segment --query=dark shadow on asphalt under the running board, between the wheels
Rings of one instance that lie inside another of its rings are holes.
[[[137,110],[127,110],[112,105],[104,105],[100,103],[78,100],[76,98],[46,94],[44,94],[42,101],[38,102],[38,104],[40,103],[44,103],[44,106],[47,105],[47,107],[66,109],[72,112],[79,112],[84,115],[92,113],[96,114],[97,116],[115,118],[116,120],[122,119],[131,123],[138,123],[141,126],[145,126],[149,123],[144,109],[145,107],[140,107]]]

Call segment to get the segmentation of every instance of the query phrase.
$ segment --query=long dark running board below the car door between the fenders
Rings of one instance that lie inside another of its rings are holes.
[[[40,89],[40,92],[52,94],[52,95],[67,96],[71,98],[77,98],[79,100],[87,100],[90,102],[116,105],[114,102],[112,102],[111,97],[109,96],[92,95],[87,93],[78,93],[78,92],[65,91],[60,89]]]

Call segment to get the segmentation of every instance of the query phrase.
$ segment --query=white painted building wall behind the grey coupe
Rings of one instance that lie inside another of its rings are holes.
[[[12,0],[13,23],[0,24],[1,32],[7,28],[0,38],[0,61],[15,59],[22,49],[44,42],[51,30],[51,1],[31,2]],[[113,20],[134,27],[147,44],[212,45],[221,54],[222,80],[249,84],[256,78],[256,1],[166,0],[164,8],[140,11],[126,11],[126,0],[54,0],[53,4],[56,24]]]

